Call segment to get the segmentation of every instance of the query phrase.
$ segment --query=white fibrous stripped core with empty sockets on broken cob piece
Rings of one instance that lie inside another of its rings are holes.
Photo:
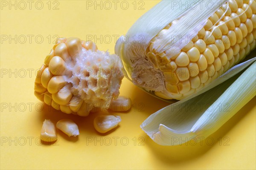
[[[72,93],[87,103],[109,105],[119,95],[122,62],[115,54],[82,48],[75,63],[67,62],[67,73],[65,79],[72,83]]]

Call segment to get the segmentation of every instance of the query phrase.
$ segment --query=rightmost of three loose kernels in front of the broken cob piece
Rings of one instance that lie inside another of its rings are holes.
[[[99,133],[106,133],[117,127],[119,122],[121,122],[120,116],[99,115],[95,117],[93,126]]]

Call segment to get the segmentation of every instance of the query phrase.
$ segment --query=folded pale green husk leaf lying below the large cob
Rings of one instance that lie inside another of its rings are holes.
[[[237,69],[251,62],[233,67],[223,77],[231,77]],[[231,77],[222,84],[190,100],[180,100],[149,116],[141,128],[161,145],[177,145],[191,139],[206,139],[218,130],[247,102],[256,96],[256,62],[241,75]],[[199,140],[198,140],[199,141]]]

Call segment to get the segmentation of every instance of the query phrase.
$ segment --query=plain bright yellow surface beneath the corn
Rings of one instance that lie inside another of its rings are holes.
[[[116,113],[122,122],[112,133],[101,135],[94,130],[97,113],[79,117],[46,105],[40,108],[42,102],[33,90],[35,70],[44,62],[56,37],[94,37],[99,49],[114,53],[115,37],[125,34],[158,1],[136,1],[135,9],[130,0],[116,1],[116,9],[113,1],[97,1],[102,9],[94,6],[95,1],[32,1],[31,10],[29,3],[23,2],[26,8],[20,1],[0,2],[1,169],[256,169],[255,97],[212,134],[212,146],[204,141],[195,146],[155,144],[140,124],[168,103],[146,94],[127,79],[120,93],[131,97],[133,107],[128,113]],[[44,6],[39,10],[41,4]],[[58,9],[53,10],[54,6]],[[144,9],[139,10],[140,6]],[[13,40],[9,42],[9,38]],[[15,71],[17,74],[10,73]],[[65,118],[78,124],[80,136],[68,138],[58,130],[58,142],[41,145],[38,137],[44,119],[56,123]]]

